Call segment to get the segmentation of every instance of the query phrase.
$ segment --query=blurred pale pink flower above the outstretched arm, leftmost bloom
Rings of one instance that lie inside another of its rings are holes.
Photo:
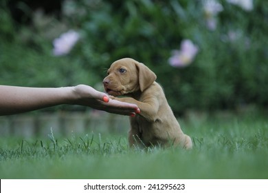
[[[61,56],[68,54],[71,51],[71,48],[74,47],[76,42],[80,39],[78,32],[74,30],[69,30],[68,32],[61,34],[60,37],[54,39],[53,53],[55,56]]]

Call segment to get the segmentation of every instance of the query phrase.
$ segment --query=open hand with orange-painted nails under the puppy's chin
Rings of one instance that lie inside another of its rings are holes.
[[[72,94],[74,96],[70,101],[72,104],[84,105],[97,110],[129,116],[139,113],[137,105],[113,100],[109,95],[99,92],[89,85],[76,85],[72,87]],[[104,100],[104,96],[109,100]]]

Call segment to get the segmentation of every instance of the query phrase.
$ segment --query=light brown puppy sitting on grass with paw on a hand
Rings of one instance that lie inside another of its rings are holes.
[[[135,103],[140,112],[131,116],[129,145],[180,145],[192,148],[190,137],[183,134],[156,75],[143,63],[125,58],[112,63],[103,80],[104,89],[114,99]]]

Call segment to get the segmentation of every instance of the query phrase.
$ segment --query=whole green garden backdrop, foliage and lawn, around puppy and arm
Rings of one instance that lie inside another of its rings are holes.
[[[194,143],[131,150],[127,116],[60,105],[0,116],[0,178],[267,179],[267,34],[267,0],[0,0],[0,84],[103,91],[131,57]]]

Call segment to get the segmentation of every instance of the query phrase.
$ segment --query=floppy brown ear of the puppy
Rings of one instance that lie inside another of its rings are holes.
[[[157,79],[157,76],[143,63],[135,62],[135,65],[139,73],[139,88],[143,92]]]

